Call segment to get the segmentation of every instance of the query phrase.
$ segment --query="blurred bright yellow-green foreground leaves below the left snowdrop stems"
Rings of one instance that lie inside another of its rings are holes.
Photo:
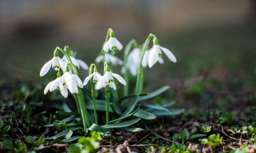
[[[78,143],[69,145],[68,153],[94,153],[100,147],[98,141],[102,140],[102,133],[92,131],[90,137],[80,137]]]

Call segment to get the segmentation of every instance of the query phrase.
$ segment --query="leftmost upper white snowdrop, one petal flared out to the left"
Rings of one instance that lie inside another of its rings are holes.
[[[54,57],[50,61],[46,62],[42,67],[40,71],[40,77],[46,75],[51,65],[52,65],[52,68],[54,68],[55,70],[58,70],[60,68],[62,69],[62,71],[64,70],[65,62],[60,59],[59,53],[57,50],[54,51]]]

